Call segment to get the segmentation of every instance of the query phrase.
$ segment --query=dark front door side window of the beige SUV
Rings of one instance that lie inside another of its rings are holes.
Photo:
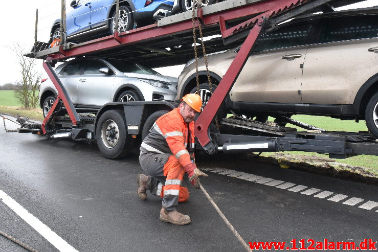
[[[282,27],[274,32],[263,34],[257,40],[257,45],[253,51],[266,51],[307,44],[311,27],[311,23],[300,22],[290,25],[290,27]]]

